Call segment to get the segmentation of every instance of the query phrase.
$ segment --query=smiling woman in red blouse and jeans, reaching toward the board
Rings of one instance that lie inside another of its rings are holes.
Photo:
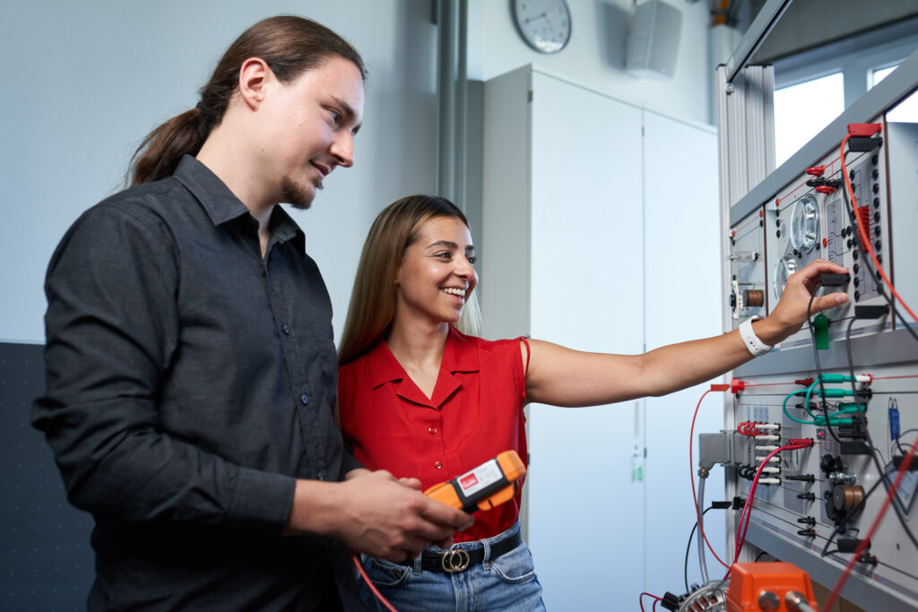
[[[535,339],[477,338],[474,263],[462,211],[440,197],[413,195],[376,217],[353,285],[339,350],[344,440],[370,470],[420,479],[423,489],[501,451],[517,451],[525,461],[522,409],[529,402],[612,404],[732,370],[800,328],[820,273],[845,273],[828,261],[813,262],[789,278],[774,312],[754,329],[612,355]],[[816,297],[812,312],[846,300],[845,294]],[[453,534],[453,549],[468,552],[462,571],[450,571],[438,547],[404,562],[366,558],[364,568],[400,612],[543,609],[519,514],[518,491]],[[364,595],[374,606],[373,596]]]

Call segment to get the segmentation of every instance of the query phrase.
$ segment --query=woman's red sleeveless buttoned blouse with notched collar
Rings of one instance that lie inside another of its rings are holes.
[[[424,489],[466,473],[498,453],[527,462],[525,373],[520,340],[487,341],[450,326],[440,374],[428,398],[380,341],[338,371],[344,440],[371,470],[419,478]],[[476,511],[457,542],[492,538],[520,515],[520,492]]]

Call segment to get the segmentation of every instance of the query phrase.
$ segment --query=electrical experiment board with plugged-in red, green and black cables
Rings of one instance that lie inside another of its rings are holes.
[[[900,79],[918,83],[914,61],[905,72]],[[845,292],[847,304],[811,317],[800,332],[734,371],[727,425],[779,428],[731,432],[727,491],[748,495],[768,452],[790,439],[813,440],[808,449],[781,451],[768,462],[763,482],[769,484],[757,486],[746,540],[829,587],[889,496],[841,593],[868,610],[918,608],[918,471],[903,472],[895,495],[888,493],[918,439],[912,315],[918,310],[918,124],[893,120],[901,99],[890,99],[879,114],[848,115],[851,123],[877,128],[835,121],[819,139],[834,146],[795,174],[782,166],[789,180],[754,206],[741,201],[742,216],[733,210],[725,222],[731,328],[767,316],[789,275],[817,258],[849,272],[841,284],[820,290]],[[738,518],[739,511],[733,530]]]

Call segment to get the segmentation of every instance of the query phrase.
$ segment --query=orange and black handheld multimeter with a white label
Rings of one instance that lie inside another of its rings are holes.
[[[471,472],[453,478],[448,483],[434,484],[427,495],[447,506],[465,512],[490,510],[513,497],[513,484],[526,475],[526,466],[516,451],[503,451]]]

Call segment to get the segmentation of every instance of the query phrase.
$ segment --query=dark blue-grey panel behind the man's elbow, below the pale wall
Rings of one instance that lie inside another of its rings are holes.
[[[67,501],[29,406],[44,391],[41,351],[0,342],[0,608],[82,610],[94,578],[93,517]]]

